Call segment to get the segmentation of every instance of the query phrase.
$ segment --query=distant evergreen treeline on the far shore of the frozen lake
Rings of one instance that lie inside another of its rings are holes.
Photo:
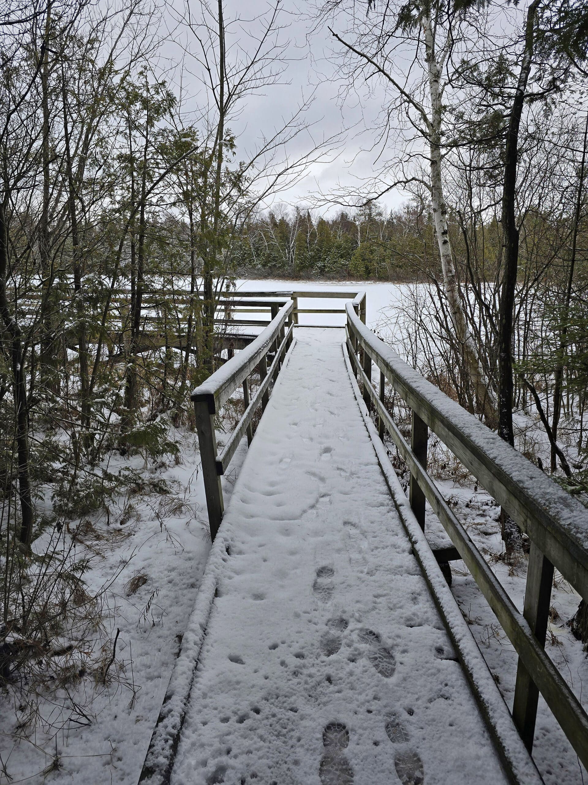
[[[520,276],[536,282],[558,276],[565,264],[570,217],[529,209],[521,226]],[[580,228],[578,248],[588,245]],[[503,261],[503,232],[496,216],[474,225],[459,212],[449,216],[449,238],[463,280],[493,281]],[[439,247],[430,206],[411,199],[389,212],[377,204],[321,217],[279,206],[242,226],[227,253],[238,276],[382,281],[440,280]],[[577,274],[586,271],[579,254]],[[472,282],[474,283],[474,282]]]

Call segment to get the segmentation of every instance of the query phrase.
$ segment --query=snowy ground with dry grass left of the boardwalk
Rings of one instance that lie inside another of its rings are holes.
[[[198,440],[193,433],[176,437],[179,465],[158,462],[145,469],[140,456],[111,455],[112,473],[134,469],[146,489],[130,497],[131,506],[128,495],[119,498],[119,514],[115,504],[109,524],[88,516],[64,532],[69,542],[78,530],[76,557],[91,559],[85,588],[102,596],[106,664],[120,630],[116,656],[106,685],[85,674],[78,685],[49,683],[31,696],[27,714],[37,716],[30,727],[17,725],[22,704],[2,696],[2,785],[136,783],[210,550]],[[241,445],[223,477],[227,501],[245,453]],[[169,493],[153,491],[164,482]],[[42,551],[48,536],[35,550]]]

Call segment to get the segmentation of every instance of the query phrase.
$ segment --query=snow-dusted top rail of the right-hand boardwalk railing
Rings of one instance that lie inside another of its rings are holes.
[[[347,319],[397,392],[517,521],[564,578],[588,598],[588,510],[474,414],[427,382],[361,323]]]

